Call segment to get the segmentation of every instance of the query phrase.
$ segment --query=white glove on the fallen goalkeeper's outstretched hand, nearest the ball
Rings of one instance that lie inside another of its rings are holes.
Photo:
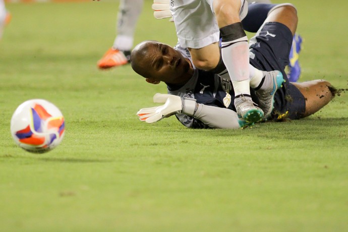
[[[176,95],[156,93],[153,102],[164,103],[161,106],[142,108],[137,112],[140,121],[155,123],[173,114],[184,113],[193,116],[197,111],[195,99],[182,98]]]

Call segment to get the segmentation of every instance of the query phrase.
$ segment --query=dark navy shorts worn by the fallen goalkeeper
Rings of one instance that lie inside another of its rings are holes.
[[[293,43],[291,31],[281,23],[269,22],[250,41],[250,64],[259,70],[279,70],[285,79],[283,86],[275,93],[271,120],[300,119],[306,110],[306,99],[288,81],[284,71]]]

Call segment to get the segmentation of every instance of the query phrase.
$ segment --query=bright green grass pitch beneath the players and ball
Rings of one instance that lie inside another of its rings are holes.
[[[348,88],[346,9],[298,7],[301,81]],[[176,43],[146,1],[135,43]],[[1,231],[348,231],[348,94],[311,117],[246,130],[140,122],[150,85],[130,66],[99,71],[119,2],[7,4],[0,42]],[[60,146],[31,154],[10,120],[44,98],[66,119]]]

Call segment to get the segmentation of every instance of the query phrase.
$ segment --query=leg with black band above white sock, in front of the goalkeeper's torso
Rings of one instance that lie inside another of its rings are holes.
[[[250,64],[248,37],[241,23],[241,13],[248,7],[241,0],[214,0],[213,12],[220,30],[221,56],[235,90],[235,106],[240,117],[257,122],[263,111],[250,95]]]

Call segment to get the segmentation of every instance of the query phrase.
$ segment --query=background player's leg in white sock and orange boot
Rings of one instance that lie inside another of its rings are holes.
[[[108,69],[129,63],[135,28],[143,4],[143,0],[123,0],[120,2],[117,21],[118,35],[112,47],[98,61],[99,68]]]

